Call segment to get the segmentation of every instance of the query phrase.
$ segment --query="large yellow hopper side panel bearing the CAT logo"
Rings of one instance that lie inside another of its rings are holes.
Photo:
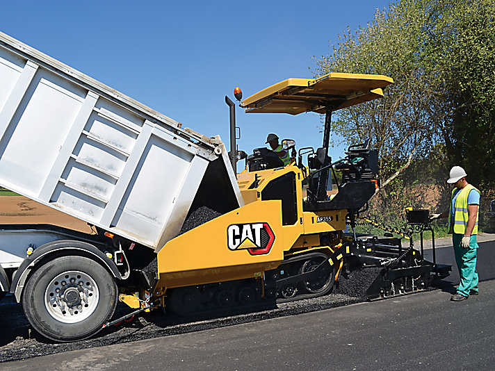
[[[158,254],[158,286],[230,281],[277,267],[284,258],[281,205],[254,201],[170,240]],[[273,233],[270,249],[243,249],[246,238],[259,246],[265,224]]]

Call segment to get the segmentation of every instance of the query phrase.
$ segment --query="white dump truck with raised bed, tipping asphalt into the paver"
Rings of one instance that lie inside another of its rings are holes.
[[[117,282],[150,286],[142,268],[191,207],[243,206],[220,138],[183,129],[3,33],[0,81],[1,186],[98,231],[1,227],[0,288],[43,335],[94,333],[115,309]]]

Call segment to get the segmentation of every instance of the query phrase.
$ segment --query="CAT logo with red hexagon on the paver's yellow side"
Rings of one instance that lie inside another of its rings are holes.
[[[251,255],[268,254],[275,235],[268,223],[232,224],[227,228],[229,249],[247,251]]]

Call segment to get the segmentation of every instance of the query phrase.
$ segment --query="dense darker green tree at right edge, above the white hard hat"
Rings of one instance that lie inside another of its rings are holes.
[[[495,1],[438,1],[426,40],[431,74],[444,83],[440,126],[448,160],[474,183],[495,182]],[[441,105],[439,105],[440,108]]]

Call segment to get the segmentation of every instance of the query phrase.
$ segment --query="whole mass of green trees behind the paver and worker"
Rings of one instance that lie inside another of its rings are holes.
[[[382,200],[411,204],[411,178],[441,172],[445,179],[451,165],[464,166],[471,183],[493,187],[495,0],[391,3],[316,60],[315,75],[328,72],[395,81],[382,99],[334,113],[332,124],[344,142],[372,138]]]

